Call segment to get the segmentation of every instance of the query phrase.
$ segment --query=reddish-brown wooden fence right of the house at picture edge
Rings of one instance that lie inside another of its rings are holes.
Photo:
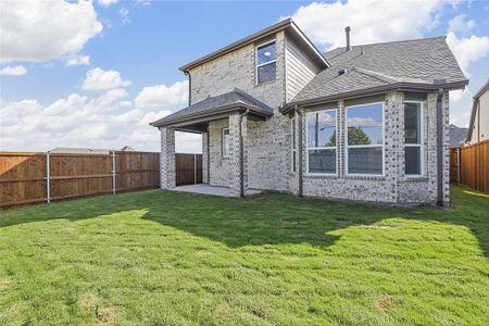
[[[489,140],[450,150],[450,181],[489,192]]]

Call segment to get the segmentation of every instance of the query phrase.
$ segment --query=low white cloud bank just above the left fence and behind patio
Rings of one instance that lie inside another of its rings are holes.
[[[89,98],[72,93],[48,105],[22,100],[0,106],[0,151],[46,151],[55,147],[159,151],[160,131],[149,125],[171,110],[134,108],[116,88]],[[199,135],[176,135],[178,152],[200,152]]]

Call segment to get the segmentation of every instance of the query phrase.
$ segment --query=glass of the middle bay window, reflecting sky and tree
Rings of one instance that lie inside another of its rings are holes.
[[[347,174],[384,174],[384,105],[347,108]]]

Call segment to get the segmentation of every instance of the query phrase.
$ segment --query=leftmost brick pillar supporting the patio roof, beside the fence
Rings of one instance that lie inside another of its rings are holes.
[[[160,188],[172,189],[176,186],[175,175],[175,129],[161,127]]]

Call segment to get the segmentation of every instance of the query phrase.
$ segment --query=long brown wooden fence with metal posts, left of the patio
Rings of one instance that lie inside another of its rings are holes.
[[[0,152],[0,208],[159,185],[160,153]]]

